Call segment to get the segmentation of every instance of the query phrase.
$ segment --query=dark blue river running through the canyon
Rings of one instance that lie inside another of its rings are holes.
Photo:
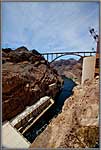
[[[60,93],[55,98],[55,105],[52,106],[39,121],[37,121],[25,134],[25,138],[32,143],[34,139],[46,128],[52,118],[56,117],[62,110],[64,101],[72,95],[72,90],[76,86],[71,79],[63,77],[64,84]]]

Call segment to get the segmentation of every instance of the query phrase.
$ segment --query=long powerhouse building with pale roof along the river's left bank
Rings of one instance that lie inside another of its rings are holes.
[[[42,97],[34,105],[27,107],[13,118],[10,121],[11,125],[24,134],[53,104],[54,101],[50,97]]]

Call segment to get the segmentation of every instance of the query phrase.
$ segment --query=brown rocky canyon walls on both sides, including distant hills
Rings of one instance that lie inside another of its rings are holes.
[[[55,100],[64,85],[64,76],[75,81],[76,86],[65,91],[70,94],[64,100],[62,110],[50,117],[49,124],[30,148],[99,146],[99,76],[81,85],[81,59],[58,60],[50,64],[36,50],[29,51],[26,47],[2,49],[3,121],[12,119],[43,96]],[[48,113],[51,112],[52,108]]]

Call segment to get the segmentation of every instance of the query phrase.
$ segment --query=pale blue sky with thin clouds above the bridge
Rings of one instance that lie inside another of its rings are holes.
[[[98,2],[2,2],[2,47],[39,52],[92,51]]]

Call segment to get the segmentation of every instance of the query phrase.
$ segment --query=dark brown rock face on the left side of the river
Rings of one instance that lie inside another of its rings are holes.
[[[3,49],[2,56],[3,121],[42,96],[55,97],[59,92],[61,78],[37,51],[28,51],[25,47]],[[55,91],[49,90],[52,83],[56,83]]]

